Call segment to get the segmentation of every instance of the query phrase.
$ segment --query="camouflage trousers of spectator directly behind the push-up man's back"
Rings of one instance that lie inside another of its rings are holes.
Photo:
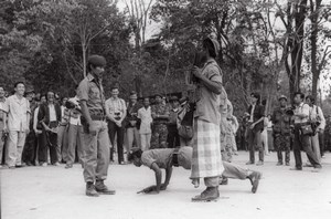
[[[154,124],[150,140],[150,149],[167,147],[168,128],[166,124]]]

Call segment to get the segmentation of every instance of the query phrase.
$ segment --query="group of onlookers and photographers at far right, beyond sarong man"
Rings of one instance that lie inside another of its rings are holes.
[[[239,134],[239,145],[249,150],[249,161],[255,164],[255,150],[258,150],[258,161],[264,164],[265,155],[270,150],[277,152],[277,165],[290,166],[290,150],[295,155],[295,168],[302,166],[321,168],[321,158],[330,149],[330,119],[325,119],[321,107],[314,97],[296,92],[293,103],[287,96],[279,96],[278,105],[270,114],[265,112],[265,102],[260,102],[258,93],[252,93],[252,105],[245,114]],[[302,165],[301,154],[307,154],[308,161]],[[285,158],[282,153],[285,152]]]

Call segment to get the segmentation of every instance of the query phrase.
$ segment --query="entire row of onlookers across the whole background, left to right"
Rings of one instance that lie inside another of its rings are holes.
[[[302,105],[303,101],[307,103],[308,115],[300,118],[300,123],[303,121],[305,124],[311,119],[318,122],[313,133],[307,135],[303,145],[303,135],[298,129],[299,126],[296,126],[293,115],[295,111],[300,108],[289,108],[287,97],[280,96],[279,106],[273,114],[265,116],[264,103],[259,103],[259,94],[252,94],[252,105],[239,123],[233,115],[233,106],[228,100],[221,106],[220,135],[223,159],[231,161],[232,155],[237,154],[238,146],[239,149],[249,150],[247,165],[255,163],[255,149],[259,152],[257,165],[263,165],[264,156],[270,150],[277,152],[277,165],[289,165],[290,149],[311,148],[312,152],[308,150],[308,157],[313,164],[310,165],[318,166],[325,147],[330,147],[331,126],[324,119],[321,108],[314,105],[313,97],[305,98],[303,94],[298,93],[295,98],[298,100],[298,106]],[[113,87],[111,96],[104,103],[111,143],[110,161],[115,160],[114,154],[117,153],[118,164],[126,164],[125,155],[128,155],[132,147],[147,150],[192,145],[193,113],[186,102],[186,98],[180,100],[175,95],[166,100],[161,94],[156,94],[152,98],[138,98],[136,92],[131,92],[129,100],[125,101],[119,97],[118,87]],[[81,118],[77,96],[60,98],[52,91],[41,95],[33,90],[25,91],[22,82],[14,85],[14,94],[11,96],[0,87],[2,168],[49,164],[58,166],[60,163],[65,163],[65,168],[71,168],[75,161],[83,165],[84,125]],[[281,152],[285,152],[285,159]],[[312,153],[314,158],[311,159]],[[296,159],[300,158],[298,153],[296,156]],[[300,169],[300,161],[297,167]]]

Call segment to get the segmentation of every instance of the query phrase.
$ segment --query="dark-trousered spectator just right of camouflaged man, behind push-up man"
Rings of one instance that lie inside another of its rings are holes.
[[[168,137],[167,143],[169,148],[180,146],[180,136],[178,134],[178,113],[180,112],[180,103],[177,96],[170,98],[171,109],[168,122]]]

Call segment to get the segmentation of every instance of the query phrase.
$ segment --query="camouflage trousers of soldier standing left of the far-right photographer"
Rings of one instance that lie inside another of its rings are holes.
[[[282,152],[285,152],[285,161],[290,160],[290,142],[289,135],[276,134],[274,138],[274,146],[277,149],[278,163],[282,164]]]

